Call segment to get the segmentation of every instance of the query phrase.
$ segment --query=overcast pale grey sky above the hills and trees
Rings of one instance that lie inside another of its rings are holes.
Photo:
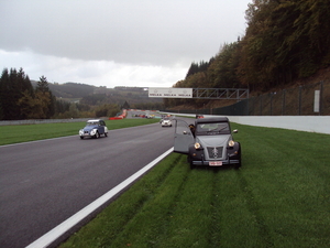
[[[245,33],[252,0],[0,0],[0,68],[30,79],[172,87]]]

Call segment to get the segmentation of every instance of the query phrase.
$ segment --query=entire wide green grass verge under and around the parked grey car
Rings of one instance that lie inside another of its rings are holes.
[[[330,247],[330,136],[233,128],[240,170],[173,153],[61,247]]]

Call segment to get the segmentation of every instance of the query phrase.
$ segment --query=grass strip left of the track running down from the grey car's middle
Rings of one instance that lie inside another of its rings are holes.
[[[188,168],[182,160],[179,166]],[[158,247],[208,247],[211,224],[213,173],[193,170],[185,180],[170,209],[166,230]]]

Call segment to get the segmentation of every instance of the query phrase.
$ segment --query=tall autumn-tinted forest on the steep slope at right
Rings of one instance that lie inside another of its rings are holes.
[[[253,0],[245,11],[244,36],[223,44],[209,62],[191,63],[186,78],[174,87],[266,91],[312,76],[330,65],[329,17],[329,0]]]

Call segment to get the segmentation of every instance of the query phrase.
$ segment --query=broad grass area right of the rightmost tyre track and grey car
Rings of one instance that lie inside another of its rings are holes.
[[[267,242],[329,246],[330,136],[248,126],[243,130],[241,185]]]

